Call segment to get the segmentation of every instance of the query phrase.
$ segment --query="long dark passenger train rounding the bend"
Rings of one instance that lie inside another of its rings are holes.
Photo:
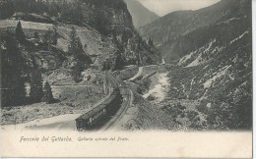
[[[103,127],[120,109],[123,101],[127,101],[130,92],[121,79],[116,79],[112,74],[106,73],[113,88],[110,95],[91,111],[76,119],[78,131],[93,131]]]

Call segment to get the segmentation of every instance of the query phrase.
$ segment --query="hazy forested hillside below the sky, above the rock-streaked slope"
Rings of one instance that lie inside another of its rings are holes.
[[[200,31],[201,28],[206,29],[205,27],[210,27],[224,20],[228,21],[231,18],[234,18],[230,20],[231,23],[237,22],[239,21],[235,19],[237,15],[239,18],[244,12],[250,12],[245,9],[249,5],[248,3],[250,3],[248,0],[222,0],[217,4],[196,11],[176,11],[142,27],[140,32],[143,36],[151,37],[162,55],[166,56],[165,60],[171,62],[187,54],[185,51],[188,47],[196,48],[198,47],[197,43],[204,40],[200,38],[189,42],[190,39],[187,37],[191,36],[190,32]],[[221,27],[222,25],[219,26],[219,28]],[[224,30],[225,28],[221,29]],[[209,36],[211,33],[214,35],[213,32],[207,32],[207,35],[204,36]],[[180,43],[181,39],[187,40],[184,42],[185,45]],[[177,45],[180,47],[178,50]]]

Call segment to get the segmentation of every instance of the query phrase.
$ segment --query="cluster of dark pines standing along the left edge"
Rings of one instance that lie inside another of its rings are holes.
[[[1,105],[15,106],[33,102],[51,103],[54,101],[51,87],[43,85],[40,70],[29,71],[21,48],[28,44],[21,22],[15,33],[6,32],[1,38]],[[29,76],[28,76],[28,72]],[[30,97],[27,97],[25,83],[30,81]]]

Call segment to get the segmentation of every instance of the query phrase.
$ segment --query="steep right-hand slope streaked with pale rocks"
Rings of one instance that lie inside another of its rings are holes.
[[[182,57],[168,75],[169,98],[200,102],[193,129],[252,128],[251,2],[232,2],[216,23],[164,44]]]

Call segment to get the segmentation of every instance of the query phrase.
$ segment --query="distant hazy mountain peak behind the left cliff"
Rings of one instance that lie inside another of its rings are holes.
[[[140,27],[151,24],[160,18],[156,13],[145,8],[137,0],[125,0],[125,3],[132,15],[133,25],[138,30]]]

